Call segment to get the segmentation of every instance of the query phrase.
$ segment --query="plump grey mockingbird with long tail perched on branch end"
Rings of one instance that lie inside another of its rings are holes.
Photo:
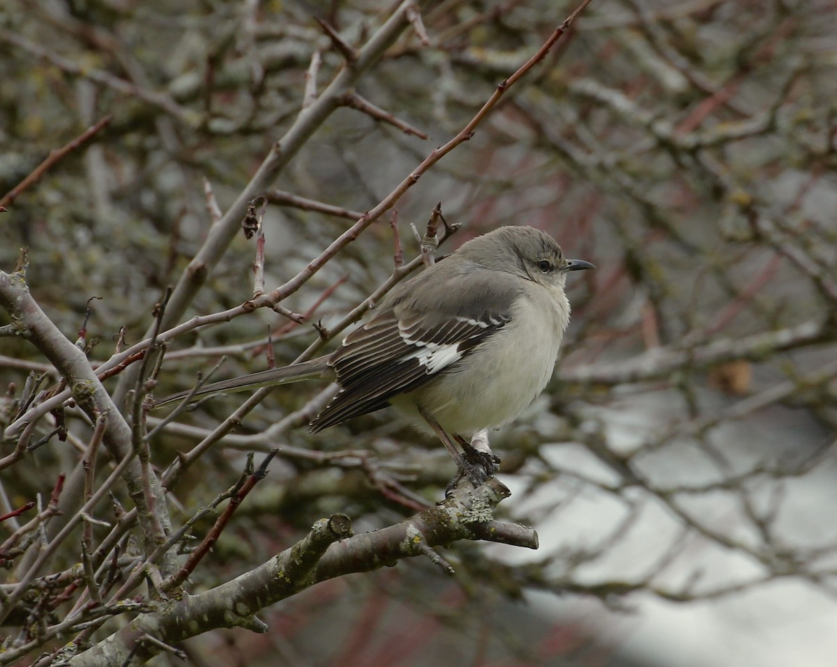
[[[331,354],[208,384],[193,396],[332,379],[340,390],[312,431],[395,405],[422,417],[454,457],[449,488],[464,475],[478,486],[500,462],[487,431],[541,395],[569,323],[567,273],[587,268],[593,264],[566,259],[540,230],[501,227],[398,285]]]

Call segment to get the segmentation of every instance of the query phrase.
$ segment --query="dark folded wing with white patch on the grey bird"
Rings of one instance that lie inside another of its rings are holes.
[[[462,286],[457,287],[461,291]],[[509,323],[513,296],[510,292],[496,298],[491,312],[475,308],[473,299],[457,305],[456,298],[449,296],[445,302],[453,308],[446,308],[447,312],[417,309],[413,303],[393,299],[377,317],[349,334],[331,355],[329,365],[341,390],[311,422],[311,430],[380,410],[393,396],[416,390],[457,364]]]

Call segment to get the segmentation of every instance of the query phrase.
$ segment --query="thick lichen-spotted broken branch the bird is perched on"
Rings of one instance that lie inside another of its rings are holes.
[[[496,539],[523,546],[537,544],[531,529],[514,527],[506,532],[490,521],[497,503],[509,495],[496,478],[474,491],[460,491],[439,507],[421,512],[394,526],[354,537],[344,515],[321,519],[311,532],[290,549],[249,573],[192,597],[177,600],[157,613],[141,614],[125,628],[70,660],[72,667],[104,667],[110,664],[138,665],[159,652],[156,644],[142,642],[151,635],[165,644],[201,634],[210,629],[244,626],[263,629],[254,614],[315,583],[344,574],[369,572],[393,565],[401,558],[424,555],[425,547],[457,540]],[[490,524],[496,531],[484,533]],[[127,661],[126,661],[127,660]]]

